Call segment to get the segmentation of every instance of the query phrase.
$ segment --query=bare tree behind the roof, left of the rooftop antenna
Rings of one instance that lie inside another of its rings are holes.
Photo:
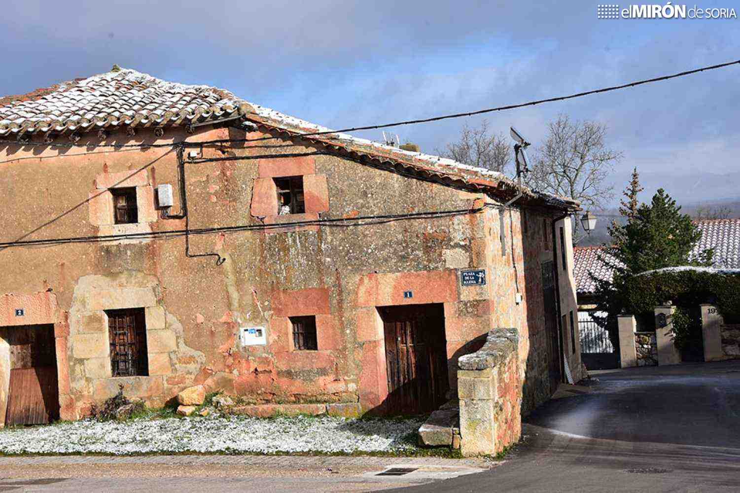
[[[454,159],[463,164],[485,168],[486,170],[506,172],[513,155],[508,138],[502,133],[488,133],[488,120],[480,127],[471,128],[465,124],[457,142],[447,144],[445,150],[436,150],[443,158]]]

